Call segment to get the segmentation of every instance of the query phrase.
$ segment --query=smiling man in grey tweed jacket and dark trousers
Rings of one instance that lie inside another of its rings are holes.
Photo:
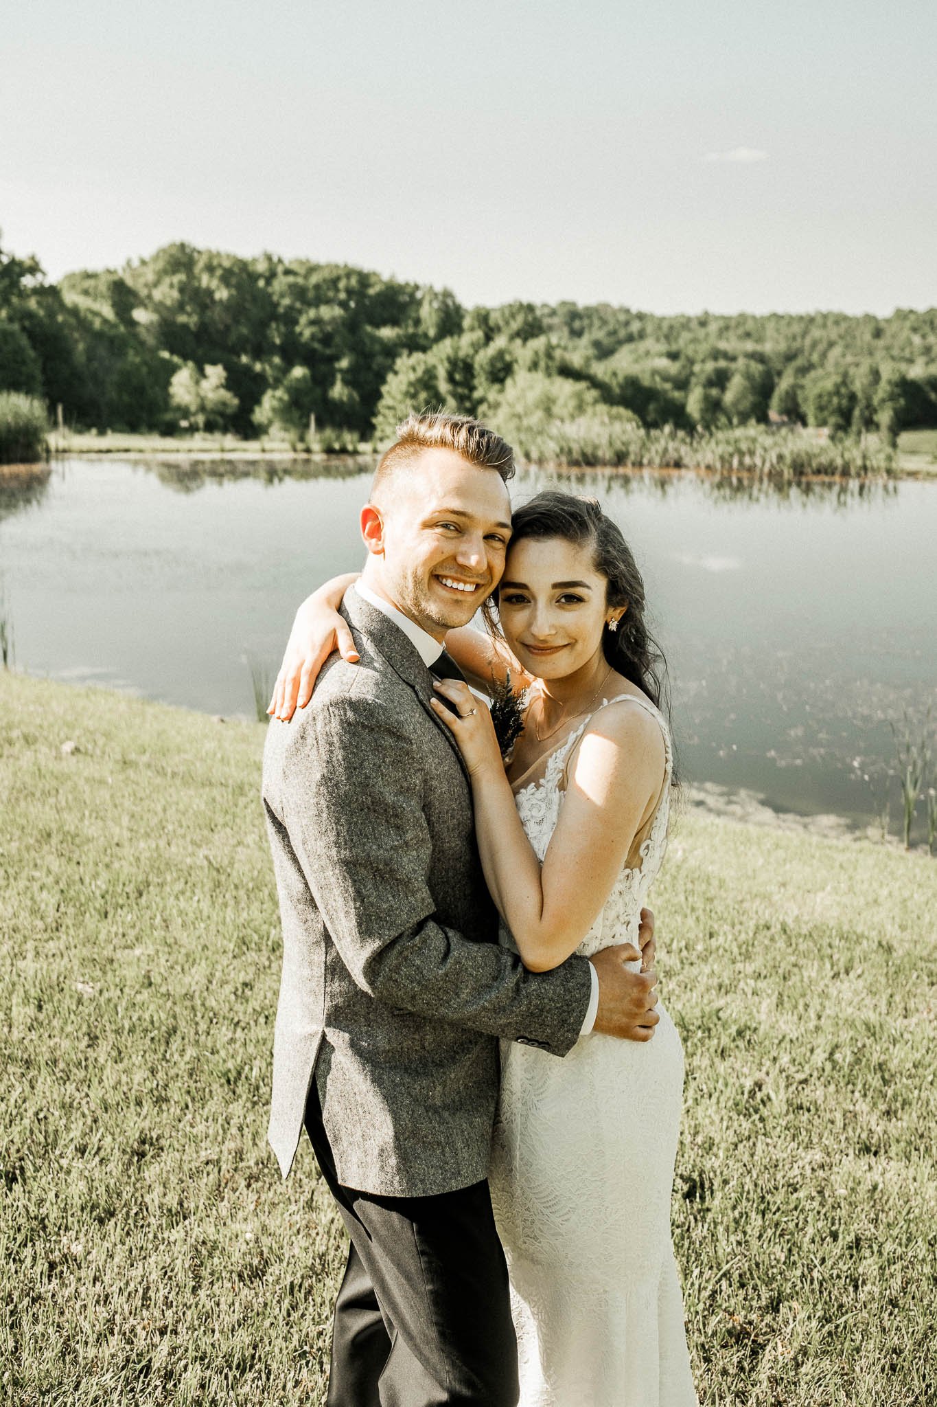
[[[284,933],[270,1141],[305,1124],[351,1238],[329,1407],[513,1407],[517,1352],[486,1182],[497,1038],[565,1055],[646,1037],[631,948],[527,972],[497,913],[451,733],[430,708],[445,632],[497,585],[510,446],[466,416],[410,416],[361,514],[346,597],[358,664],[270,723],[263,798]]]

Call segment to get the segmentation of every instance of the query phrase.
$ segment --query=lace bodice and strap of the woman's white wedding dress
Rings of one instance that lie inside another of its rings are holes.
[[[575,732],[572,732],[561,743],[556,751],[551,754],[546,760],[544,775],[538,781],[531,782],[528,787],[521,787],[514,798],[527,839],[534,847],[537,858],[542,864],[546,847],[549,846],[553,830],[556,829],[559,809],[563,803],[562,781],[566,763],[596,713],[598,713],[601,708],[607,708],[610,704],[620,704],[622,701],[629,701],[636,708],[642,708],[660,725],[666,756],[664,787],[660,802],[657,803],[657,810],[655,812],[650,823],[650,830],[641,846],[641,865],[622,867],[601,913],[576,948],[576,951],[584,957],[591,957],[593,953],[598,953],[600,948],[607,948],[612,943],[636,941],[641,909],[643,908],[652,881],[660,870],[664,851],[667,848],[673,747],[670,743],[670,733],[662,713],[653,706],[650,699],[645,699],[636,694],[617,694],[611,699],[603,699],[600,708],[584,718],[579,727],[575,729]]]

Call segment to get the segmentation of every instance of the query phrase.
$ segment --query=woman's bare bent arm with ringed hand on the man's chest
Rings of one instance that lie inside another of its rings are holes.
[[[471,713],[462,684],[438,691],[459,709],[435,712],[455,734],[472,781],[475,834],[485,879],[524,965],[559,967],[596,922],[635,836],[653,815],[666,772],[657,723],[610,705],[576,750],[566,798],[541,867],[524,833],[486,709]]]

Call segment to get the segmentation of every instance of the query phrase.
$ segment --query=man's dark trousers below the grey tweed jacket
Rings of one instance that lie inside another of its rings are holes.
[[[517,1341],[487,1182],[434,1197],[344,1188],[315,1081],[306,1131],[351,1238],[327,1407],[516,1407]]]

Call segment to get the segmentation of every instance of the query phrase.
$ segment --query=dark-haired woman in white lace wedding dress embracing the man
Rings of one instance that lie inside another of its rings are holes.
[[[301,640],[302,661],[284,663],[273,712],[292,713],[299,673],[308,701],[343,642],[341,618],[329,615],[323,633],[322,602],[334,606],[348,580],[301,608],[288,657]],[[466,682],[441,681],[433,702],[469,771],[502,941],[546,971],[573,951],[638,944],[666,848],[673,750],[641,574],[598,504],[542,492],[517,509],[493,601],[489,633],[452,630],[445,647],[500,701],[517,733],[506,758]],[[697,1403],[670,1238],[683,1050],[656,1010],[653,1040],[591,1034],[562,1061],[502,1043],[489,1182],[521,1407]]]

